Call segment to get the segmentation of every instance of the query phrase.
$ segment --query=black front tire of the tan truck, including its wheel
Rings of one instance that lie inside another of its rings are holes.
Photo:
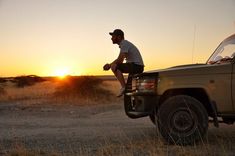
[[[164,101],[157,122],[163,138],[172,144],[190,145],[202,140],[208,129],[208,114],[197,99],[177,95]]]

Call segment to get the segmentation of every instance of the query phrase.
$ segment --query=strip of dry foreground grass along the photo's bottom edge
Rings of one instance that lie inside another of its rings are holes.
[[[161,140],[158,135],[148,136],[142,134],[141,139],[130,139],[122,135],[119,141],[112,141],[104,138],[103,142],[94,147],[80,146],[79,149],[70,149],[67,152],[45,151],[42,149],[32,150],[23,145],[15,145],[10,151],[5,152],[7,156],[219,156],[234,155],[229,149],[234,146],[232,142],[216,138],[213,142],[208,141],[205,144],[195,144],[192,146],[168,145]],[[123,141],[127,140],[127,141]],[[48,145],[51,146],[51,145]]]

